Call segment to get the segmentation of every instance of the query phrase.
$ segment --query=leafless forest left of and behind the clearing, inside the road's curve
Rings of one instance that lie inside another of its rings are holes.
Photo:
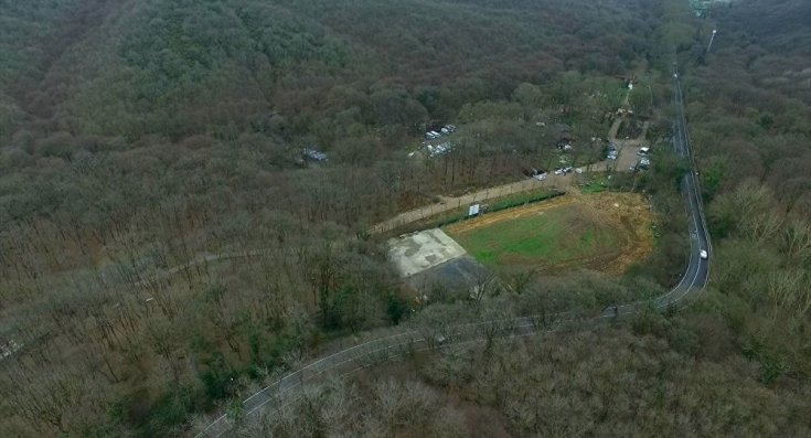
[[[617,76],[662,55],[642,0],[0,12],[9,436],[174,435],[326,340],[397,323],[365,228],[552,160],[537,122],[605,135]],[[668,99],[650,85],[647,111]],[[406,160],[447,122],[458,152]]]

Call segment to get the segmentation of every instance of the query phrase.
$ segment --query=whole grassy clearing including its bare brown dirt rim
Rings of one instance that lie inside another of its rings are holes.
[[[542,273],[585,267],[622,274],[653,249],[653,218],[639,194],[569,193],[445,231],[487,266],[521,265]]]

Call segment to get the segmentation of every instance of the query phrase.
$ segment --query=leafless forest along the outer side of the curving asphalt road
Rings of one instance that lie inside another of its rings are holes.
[[[809,435],[811,9],[741,0],[697,20],[684,3],[664,11],[662,38],[679,49],[713,237],[711,284],[696,302],[599,332],[417,354],[409,366],[314,385],[245,434]],[[589,292],[602,290],[530,284],[505,312],[545,314],[561,297]],[[459,311],[433,310],[412,322]],[[463,312],[492,318],[472,306]],[[352,402],[330,408],[334,397]]]

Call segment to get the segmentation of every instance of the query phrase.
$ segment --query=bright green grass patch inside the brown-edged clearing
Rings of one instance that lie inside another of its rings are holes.
[[[578,210],[563,206],[449,234],[477,260],[489,266],[556,265],[615,246],[610,228],[600,228],[597,224],[573,227],[574,223],[583,224],[578,215]]]

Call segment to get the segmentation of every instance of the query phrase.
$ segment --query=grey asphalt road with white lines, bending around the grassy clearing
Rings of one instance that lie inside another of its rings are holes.
[[[390,361],[394,357],[409,354],[414,351],[459,345],[479,342],[493,336],[523,336],[534,333],[596,327],[601,323],[628,317],[637,312],[642,306],[651,303],[658,309],[677,307],[690,297],[697,296],[704,290],[709,278],[709,260],[713,252],[707,233],[706,221],[702,207],[701,191],[695,172],[695,163],[690,149],[686,120],[684,117],[684,97],[679,79],[676,65],[673,72],[674,105],[676,117],[674,120],[673,148],[691,163],[692,171],[682,179],[682,191],[686,201],[690,216],[690,260],[680,282],[669,292],[651,301],[638,301],[622,306],[611,306],[597,317],[583,318],[570,312],[521,317],[514,319],[482,321],[470,324],[446,325],[434,331],[412,330],[395,335],[375,339],[352,348],[339,351],[332,355],[321,357],[309,365],[288,374],[280,381],[271,384],[245,399],[242,404],[241,416],[246,417],[260,410],[268,404],[286,405],[296,398],[296,391],[300,391],[307,382],[335,370],[351,373],[355,370],[372,366],[376,363]],[[702,258],[701,250],[707,252],[708,257]],[[228,432],[234,419],[222,415],[212,421],[196,437],[220,437]]]

